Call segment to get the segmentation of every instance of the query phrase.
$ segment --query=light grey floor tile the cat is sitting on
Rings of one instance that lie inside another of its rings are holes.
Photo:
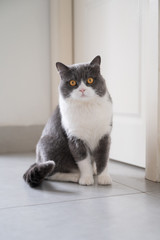
[[[112,186],[80,186],[74,183],[45,181],[41,187],[33,189],[22,178],[23,173],[33,162],[34,154],[0,156],[0,208],[139,192],[116,182],[113,182]]]

